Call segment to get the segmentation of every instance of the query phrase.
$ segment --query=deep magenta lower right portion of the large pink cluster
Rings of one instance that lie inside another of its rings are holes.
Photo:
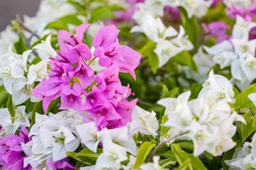
[[[95,78],[97,86],[93,86],[90,93],[84,93],[87,96],[85,110],[92,115],[99,130],[126,125],[130,121],[129,110],[136,105],[137,100],[134,103],[126,101],[131,94],[131,89],[129,86],[122,86],[118,74],[118,64],[103,69]],[[127,103],[129,106],[126,106]],[[120,110],[120,108],[125,109]]]

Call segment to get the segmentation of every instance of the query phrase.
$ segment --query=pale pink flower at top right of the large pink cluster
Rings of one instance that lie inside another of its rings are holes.
[[[134,69],[139,65],[142,55],[126,45],[119,45],[119,30],[116,26],[104,27],[101,21],[100,25],[101,28],[92,42],[92,46],[95,47],[93,55],[100,57],[100,66],[108,67],[118,63],[120,72],[129,72],[135,79]]]

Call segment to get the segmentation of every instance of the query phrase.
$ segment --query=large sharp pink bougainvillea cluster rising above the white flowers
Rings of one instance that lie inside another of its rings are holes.
[[[43,100],[46,112],[55,98],[60,97],[61,110],[73,108],[92,115],[97,128],[118,128],[131,121],[131,112],[137,99],[127,101],[129,86],[122,86],[119,72],[129,72],[135,79],[134,69],[141,55],[126,45],[119,45],[116,26],[103,26],[92,42],[93,52],[82,42],[90,24],[76,28],[77,37],[65,30],[58,32],[58,55],[51,58],[50,74],[33,90],[33,96]],[[99,58],[102,69],[96,74],[90,63]]]

